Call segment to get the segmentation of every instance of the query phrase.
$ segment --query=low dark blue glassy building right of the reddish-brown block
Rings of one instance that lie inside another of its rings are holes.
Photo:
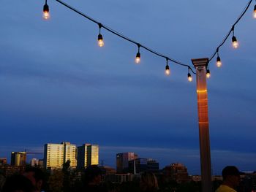
[[[129,161],[129,172],[137,174],[140,172],[158,172],[159,163],[152,158],[136,158]]]

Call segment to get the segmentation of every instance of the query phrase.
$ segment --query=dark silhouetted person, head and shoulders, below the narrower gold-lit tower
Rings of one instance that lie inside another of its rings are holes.
[[[102,181],[102,171],[97,165],[88,166],[84,172],[84,184],[86,192],[105,192],[100,183]]]

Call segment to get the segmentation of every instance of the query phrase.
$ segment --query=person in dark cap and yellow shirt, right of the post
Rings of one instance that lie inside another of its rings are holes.
[[[222,170],[223,183],[216,192],[237,192],[236,188],[241,181],[241,174],[243,173],[239,172],[236,166],[226,166]]]

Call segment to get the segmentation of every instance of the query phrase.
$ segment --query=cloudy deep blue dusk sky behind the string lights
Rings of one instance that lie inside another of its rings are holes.
[[[75,9],[163,55],[192,66],[207,58],[248,1],[64,0]],[[3,0],[0,18],[0,157],[41,151],[45,143],[99,145],[99,160],[116,153],[154,158],[160,168],[181,162],[200,174],[195,75],[48,0]],[[226,165],[256,170],[255,1],[209,64],[208,112],[213,174]],[[28,158],[34,157],[29,155]],[[37,155],[42,158],[43,155]]]

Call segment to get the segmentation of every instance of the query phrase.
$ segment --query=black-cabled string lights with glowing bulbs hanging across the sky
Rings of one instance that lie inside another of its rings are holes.
[[[97,20],[94,20],[93,18],[90,18],[88,15],[84,14],[83,12],[78,11],[77,9],[71,7],[69,4],[64,3],[63,1],[60,1],[60,0],[56,0],[56,1],[59,2],[60,4],[64,5],[68,9],[71,9],[72,11],[74,11],[74,12],[78,13],[79,15],[83,16],[87,20],[90,20],[91,22],[96,23],[98,25],[98,27],[99,27],[99,34],[98,34],[98,45],[99,45],[99,47],[104,46],[103,36],[101,34],[101,29],[104,28],[106,31],[109,31],[112,34],[115,34],[116,36],[120,37],[121,39],[125,39],[128,42],[132,42],[133,44],[137,45],[138,53],[135,56],[135,63],[136,64],[140,64],[140,48],[142,47],[143,49],[148,50],[148,52],[153,53],[154,55],[157,55],[159,57],[165,58],[165,60],[166,60],[165,74],[166,75],[170,75],[170,67],[168,65],[168,61],[172,61],[174,64],[178,64],[180,66],[187,67],[187,69],[188,69],[187,78],[188,78],[189,82],[192,81],[192,76],[190,74],[190,71],[193,74],[195,74],[195,72],[193,71],[191,66],[189,66],[187,64],[182,64],[180,61],[176,61],[175,59],[167,57],[166,55],[163,55],[162,53],[158,53],[157,51],[154,51],[151,48],[146,47],[145,45],[141,45],[139,42],[136,42],[135,40],[130,39],[129,37],[124,36],[123,34],[119,33],[118,31],[115,31],[115,30],[109,28],[108,26],[103,25],[102,23],[98,22]],[[252,0],[249,0],[248,4],[246,4],[246,7],[241,12],[241,15],[239,15],[238,19],[233,24],[232,28],[230,28],[230,31],[227,33],[227,35],[222,40],[222,42],[219,44],[219,46],[214,51],[214,53],[211,55],[211,58],[209,58],[208,62],[210,62],[214,58],[214,56],[217,55],[217,67],[222,66],[222,61],[221,61],[221,58],[219,57],[219,48],[222,47],[222,45],[225,44],[225,42],[227,41],[227,38],[230,37],[231,33],[233,34],[233,36],[232,36],[233,47],[234,48],[238,48],[238,41],[237,41],[236,36],[235,36],[235,26],[241,20],[241,18],[243,18],[244,14],[249,9],[250,4],[252,4]],[[256,18],[256,5],[254,7],[253,17]],[[47,0],[45,0],[45,5],[43,7],[43,18],[45,20],[48,20],[50,18],[50,13],[49,13],[49,7],[48,7],[48,4],[47,4]],[[206,77],[207,78],[211,77],[211,73],[210,73],[210,70],[208,68],[208,64],[206,66]]]

